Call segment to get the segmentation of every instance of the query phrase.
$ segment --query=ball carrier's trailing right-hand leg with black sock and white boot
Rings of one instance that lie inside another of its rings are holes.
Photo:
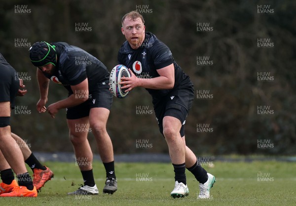
[[[182,138],[185,143],[185,136]],[[194,175],[199,182],[199,199],[210,198],[210,189],[216,182],[215,176],[207,171],[197,162],[194,153],[185,146],[185,164],[186,168]]]

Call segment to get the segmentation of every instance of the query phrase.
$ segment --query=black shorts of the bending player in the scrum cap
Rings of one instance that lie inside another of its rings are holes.
[[[87,101],[75,107],[66,109],[66,116],[68,120],[76,120],[89,116],[91,108],[103,107],[111,109],[113,95],[109,90],[109,80],[99,82],[89,88],[89,98]],[[69,93],[71,95],[71,93]]]

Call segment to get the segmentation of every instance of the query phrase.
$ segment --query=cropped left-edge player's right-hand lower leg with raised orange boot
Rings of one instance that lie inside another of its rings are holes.
[[[33,185],[36,187],[37,191],[40,190],[41,187],[43,187],[44,184],[54,176],[53,172],[48,167],[40,164],[26,142],[21,137],[14,133],[11,133],[11,136],[19,145],[23,153],[25,163],[30,166],[34,173]]]

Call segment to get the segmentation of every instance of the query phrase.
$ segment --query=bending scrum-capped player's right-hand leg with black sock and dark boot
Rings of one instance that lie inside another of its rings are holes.
[[[113,146],[106,129],[109,114],[109,109],[92,108],[89,113],[89,124],[96,137],[99,154],[106,169],[106,185],[103,193],[113,194],[117,190],[117,180],[114,169]]]

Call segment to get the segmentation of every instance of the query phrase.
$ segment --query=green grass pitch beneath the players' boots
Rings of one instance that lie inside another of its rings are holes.
[[[67,196],[76,190],[82,178],[74,163],[46,163],[55,173],[37,198],[0,198],[5,206],[292,206],[296,205],[296,164],[284,162],[225,163],[204,166],[216,176],[211,198],[198,200],[198,182],[186,171],[189,196],[170,197],[174,187],[171,164],[117,163],[118,191],[102,193],[105,170],[100,162],[93,163],[97,196]],[[31,170],[29,170],[31,172]],[[258,175],[270,175],[259,182]],[[136,175],[146,175],[149,181],[136,181]],[[74,185],[74,186],[72,186]]]

